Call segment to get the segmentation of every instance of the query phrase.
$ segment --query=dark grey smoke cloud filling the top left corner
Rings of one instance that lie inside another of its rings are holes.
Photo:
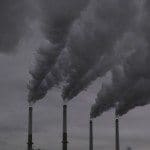
[[[30,0],[1,0],[0,3],[0,52],[16,50],[19,41],[27,32],[31,16]]]

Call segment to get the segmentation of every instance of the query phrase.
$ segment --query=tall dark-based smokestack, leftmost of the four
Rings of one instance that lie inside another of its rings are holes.
[[[28,117],[28,150],[32,150],[32,104],[29,103],[29,117]]]

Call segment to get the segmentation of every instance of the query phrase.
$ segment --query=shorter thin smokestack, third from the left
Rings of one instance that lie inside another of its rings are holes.
[[[93,150],[93,121],[89,122],[89,150]]]

